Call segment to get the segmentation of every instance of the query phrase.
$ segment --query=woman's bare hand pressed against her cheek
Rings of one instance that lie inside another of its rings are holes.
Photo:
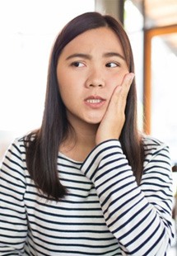
[[[130,86],[133,82],[134,73],[124,76],[121,85],[114,89],[105,116],[100,122],[95,137],[95,144],[98,145],[105,140],[118,140],[125,121],[125,107]]]

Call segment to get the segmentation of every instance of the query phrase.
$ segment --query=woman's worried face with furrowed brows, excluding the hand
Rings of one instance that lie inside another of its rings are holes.
[[[86,31],[58,59],[58,86],[68,121],[99,124],[114,88],[128,72],[119,38],[109,28]]]

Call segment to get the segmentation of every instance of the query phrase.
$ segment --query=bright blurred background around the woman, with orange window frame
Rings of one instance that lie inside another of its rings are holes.
[[[177,0],[0,0],[0,162],[16,137],[40,126],[49,53],[82,12],[122,21],[133,47],[139,129],[170,146],[177,187]],[[174,206],[174,220],[176,211]],[[176,244],[170,256],[176,254]]]

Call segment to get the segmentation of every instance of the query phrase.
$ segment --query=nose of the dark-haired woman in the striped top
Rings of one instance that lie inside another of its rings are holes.
[[[86,88],[91,88],[91,87],[100,87],[100,88],[105,87],[103,73],[101,74],[100,71],[94,70],[89,74],[86,80]]]

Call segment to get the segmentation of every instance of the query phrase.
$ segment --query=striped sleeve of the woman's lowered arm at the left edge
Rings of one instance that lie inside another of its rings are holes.
[[[21,149],[13,144],[0,170],[0,255],[21,255],[26,242],[26,191]]]

